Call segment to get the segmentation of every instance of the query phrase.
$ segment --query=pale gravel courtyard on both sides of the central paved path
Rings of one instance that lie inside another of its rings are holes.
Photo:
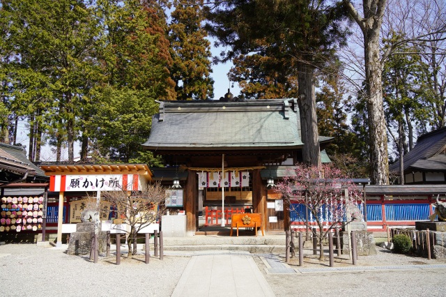
[[[360,257],[357,266],[425,268],[271,274],[266,272],[263,255],[253,257],[276,296],[446,296],[446,268],[429,268],[446,261],[392,254],[382,248],[376,256]],[[114,260],[101,257],[93,264],[87,257],[56,248],[0,245],[0,296],[170,296],[190,257],[167,254],[164,261],[153,257],[144,264],[141,254],[130,261],[123,258],[120,266]],[[289,267],[298,268],[297,264],[298,259],[291,259]],[[327,266],[328,262],[305,258],[304,268]],[[335,266],[352,267],[348,261]]]

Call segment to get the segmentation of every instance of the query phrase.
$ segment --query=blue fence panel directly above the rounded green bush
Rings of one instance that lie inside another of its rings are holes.
[[[386,204],[384,208],[387,221],[429,220],[429,204]]]

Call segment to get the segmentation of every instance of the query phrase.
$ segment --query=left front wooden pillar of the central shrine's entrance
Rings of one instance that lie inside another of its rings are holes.
[[[187,180],[184,190],[184,209],[186,211],[186,235],[195,235],[197,230],[197,220],[195,219],[197,215],[197,174],[192,170],[187,170]]]

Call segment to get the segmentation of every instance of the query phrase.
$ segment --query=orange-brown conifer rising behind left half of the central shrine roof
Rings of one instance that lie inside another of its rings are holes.
[[[203,0],[175,0],[169,26],[171,77],[176,83],[178,100],[213,98],[214,81],[210,77],[210,42],[202,27]]]

